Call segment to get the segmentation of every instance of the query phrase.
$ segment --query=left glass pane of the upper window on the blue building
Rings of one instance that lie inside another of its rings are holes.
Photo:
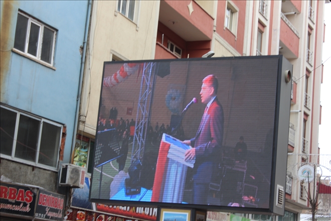
[[[29,19],[23,15],[18,14],[17,16],[14,48],[23,52],[25,51],[25,40],[27,38],[28,20]]]

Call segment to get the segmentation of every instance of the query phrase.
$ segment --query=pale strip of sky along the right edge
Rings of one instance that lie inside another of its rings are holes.
[[[325,39],[322,49],[322,62],[325,63],[320,94],[322,118],[321,125],[319,125],[318,143],[320,154],[331,154],[331,3],[325,4],[324,23]],[[328,60],[326,61],[326,59]]]

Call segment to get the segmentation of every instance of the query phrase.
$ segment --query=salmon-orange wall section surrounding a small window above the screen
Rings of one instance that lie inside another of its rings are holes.
[[[238,12],[238,26],[237,26],[237,40],[236,36],[227,28],[224,30],[226,1],[219,1],[217,5],[217,21],[216,32],[224,38],[232,47],[234,47],[240,54],[243,53],[244,34],[245,34],[245,16],[246,16],[246,1],[233,0],[232,3],[239,9]]]

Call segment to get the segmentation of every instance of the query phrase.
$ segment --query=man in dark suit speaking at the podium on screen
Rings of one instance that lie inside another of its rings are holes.
[[[218,80],[215,75],[208,75],[202,81],[201,102],[207,104],[195,138],[184,141],[193,148],[185,153],[185,160],[196,158],[194,164],[193,203],[207,204],[209,183],[213,169],[221,157],[223,143],[224,115],[218,101]]]

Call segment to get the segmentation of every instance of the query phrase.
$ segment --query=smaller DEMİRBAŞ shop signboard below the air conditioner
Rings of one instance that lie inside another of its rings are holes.
[[[35,218],[47,220],[63,220],[65,196],[40,189]]]

